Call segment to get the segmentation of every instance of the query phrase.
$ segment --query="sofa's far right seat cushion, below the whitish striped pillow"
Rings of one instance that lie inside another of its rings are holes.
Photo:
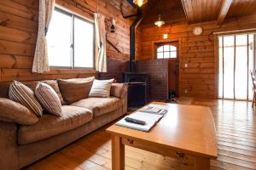
[[[81,99],[72,105],[87,108],[93,112],[94,116],[101,116],[111,111],[119,109],[122,101],[119,98],[87,98]]]

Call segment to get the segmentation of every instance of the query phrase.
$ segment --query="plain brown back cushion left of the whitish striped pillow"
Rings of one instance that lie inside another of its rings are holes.
[[[58,80],[61,95],[67,104],[88,98],[94,77]]]

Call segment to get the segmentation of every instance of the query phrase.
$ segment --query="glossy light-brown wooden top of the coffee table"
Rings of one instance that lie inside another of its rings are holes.
[[[117,125],[108,127],[107,131],[171,150],[183,150],[210,158],[218,156],[216,129],[208,107],[160,102],[151,104],[165,105],[168,113],[148,133]]]

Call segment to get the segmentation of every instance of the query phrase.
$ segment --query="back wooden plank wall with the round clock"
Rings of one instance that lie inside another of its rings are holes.
[[[196,97],[217,97],[218,70],[214,65],[216,47],[213,33],[256,28],[256,15],[226,20],[222,26],[218,26],[216,21],[188,25],[184,14],[174,21],[165,17],[167,24],[160,28],[152,25],[151,20],[151,17],[148,17],[141,25],[142,53],[137,55],[137,60],[154,59],[154,42],[164,41],[163,34],[169,35],[166,42],[178,40],[181,49],[179,94]],[[192,30],[195,26],[203,28],[201,36],[193,35]],[[188,64],[188,68],[184,67],[185,64]],[[185,94],[186,90],[187,94]]]

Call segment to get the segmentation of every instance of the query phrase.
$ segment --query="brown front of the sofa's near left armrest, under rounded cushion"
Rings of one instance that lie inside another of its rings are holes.
[[[0,121],[0,150],[1,169],[19,169],[16,123]]]

